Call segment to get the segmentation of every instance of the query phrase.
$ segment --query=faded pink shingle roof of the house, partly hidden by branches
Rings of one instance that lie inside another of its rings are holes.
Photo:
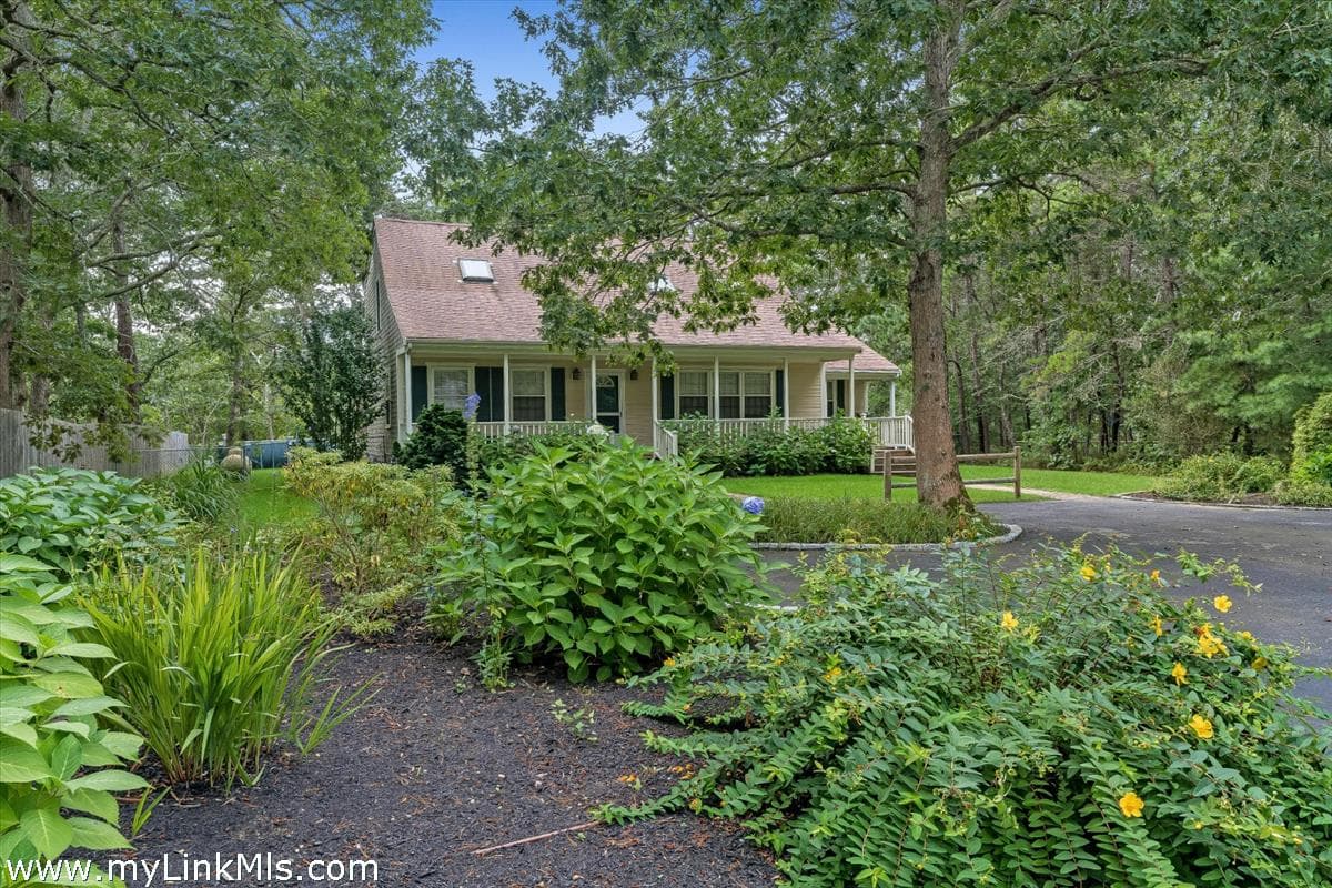
[[[374,220],[374,237],[389,305],[408,339],[457,342],[541,342],[541,306],[523,289],[522,274],[539,265],[539,256],[514,250],[493,254],[492,245],[468,248],[452,240],[464,228],[449,222]],[[457,260],[484,258],[494,284],[464,282]],[[689,294],[698,285],[683,266],[667,269],[673,286]],[[683,329],[683,321],[663,317],[655,332],[669,346],[818,347],[856,351],[858,371],[896,371],[896,365],[860,339],[842,332],[822,335],[790,330],[781,316],[781,300],[755,305],[757,321],[722,333]]]

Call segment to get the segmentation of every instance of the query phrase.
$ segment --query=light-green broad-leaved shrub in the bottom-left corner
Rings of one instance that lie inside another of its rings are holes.
[[[88,668],[113,654],[80,640],[71,592],[49,564],[0,554],[0,861],[128,848],[112,793],[148,787],[124,771],[143,740],[116,730],[123,703]]]

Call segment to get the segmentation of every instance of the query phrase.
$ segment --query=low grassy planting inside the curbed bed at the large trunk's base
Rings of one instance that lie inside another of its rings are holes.
[[[762,521],[758,541],[770,543],[938,543],[1000,531],[979,513],[952,518],[919,503],[860,497],[769,497]]]

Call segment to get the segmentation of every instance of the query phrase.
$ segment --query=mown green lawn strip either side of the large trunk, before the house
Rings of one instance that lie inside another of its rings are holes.
[[[963,478],[975,481],[980,478],[1011,478],[1012,466],[963,466]],[[906,479],[902,479],[903,482]],[[1023,469],[1023,489],[1054,490],[1070,494],[1090,494],[1095,497],[1108,497],[1123,494],[1131,490],[1144,490],[1151,487],[1155,478],[1146,475],[1123,475],[1114,471],[1067,471],[1062,469]],[[797,478],[727,478],[726,487],[731,493],[753,494],[755,497],[883,497],[883,478],[880,475],[802,475]],[[982,490],[967,487],[971,499],[975,502],[1012,502],[1012,491]],[[896,490],[894,499],[902,502],[915,502],[914,490]],[[1040,499],[1031,494],[1023,494],[1023,501]]]

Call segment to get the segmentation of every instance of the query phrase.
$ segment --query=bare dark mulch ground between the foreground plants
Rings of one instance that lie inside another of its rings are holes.
[[[272,763],[253,788],[168,796],[135,839],[136,856],[272,852],[297,867],[370,857],[380,885],[440,888],[774,880],[735,824],[690,815],[470,853],[590,820],[597,804],[646,799],[678,780],[670,768],[681,763],[639,739],[645,728],[669,728],[619,710],[638,691],[515,670],[514,687],[492,694],[465,651],[428,638],[356,646],[338,672],[348,682],[378,676],[377,696],[313,755]],[[557,698],[595,711],[595,743],[555,722]],[[642,791],[625,775],[637,775]]]

